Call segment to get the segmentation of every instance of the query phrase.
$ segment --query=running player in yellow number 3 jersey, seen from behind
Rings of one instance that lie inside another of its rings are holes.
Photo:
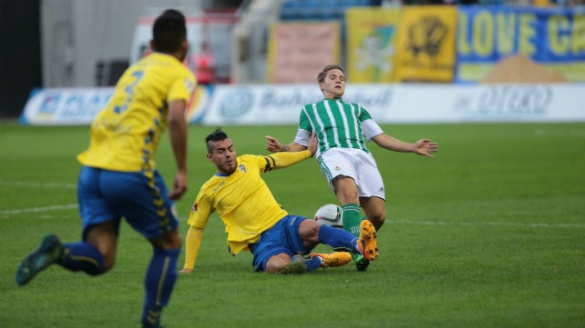
[[[91,124],[89,147],[77,157],[83,164],[77,184],[83,240],[62,244],[56,235],[46,235],[20,263],[16,283],[28,283],[54,263],[91,275],[107,272],[114,266],[124,217],[153,246],[144,279],[142,323],[160,327],[182,247],[174,200],[187,186],[184,112],[195,86],[193,74],[182,64],[188,48],[186,35],[182,13],[170,9],[156,18],[154,53],[124,72],[112,99]],[[177,165],[170,191],[154,165],[167,127]]]

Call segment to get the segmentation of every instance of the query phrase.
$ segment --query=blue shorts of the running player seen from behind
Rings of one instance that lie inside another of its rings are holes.
[[[77,201],[84,224],[83,238],[96,224],[122,217],[147,239],[178,226],[174,202],[157,171],[116,172],[84,166],[77,181]]]

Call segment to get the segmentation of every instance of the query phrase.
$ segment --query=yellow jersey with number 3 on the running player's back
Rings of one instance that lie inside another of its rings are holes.
[[[195,77],[172,55],[153,53],[130,66],[106,107],[95,116],[84,165],[120,172],[154,169],[154,154],[167,126],[168,104],[188,103]]]

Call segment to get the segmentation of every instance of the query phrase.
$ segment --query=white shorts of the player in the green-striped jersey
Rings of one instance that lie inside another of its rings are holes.
[[[380,197],[386,199],[382,175],[371,153],[359,149],[332,148],[317,157],[321,172],[327,178],[329,187],[339,175],[351,177],[358,185],[360,197]]]

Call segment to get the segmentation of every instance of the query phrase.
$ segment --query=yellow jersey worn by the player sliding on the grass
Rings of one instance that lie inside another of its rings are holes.
[[[248,244],[288,215],[261,176],[275,168],[273,161],[272,156],[238,156],[233,174],[215,174],[203,184],[188,223],[204,229],[210,215],[217,212],[225,225],[230,252],[249,251]]]

